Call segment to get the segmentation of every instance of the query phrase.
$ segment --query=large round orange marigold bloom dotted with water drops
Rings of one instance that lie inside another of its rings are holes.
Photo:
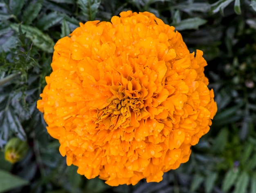
[[[216,114],[200,50],[149,12],[80,23],[54,47],[37,108],[67,165],[110,186],[159,182]]]

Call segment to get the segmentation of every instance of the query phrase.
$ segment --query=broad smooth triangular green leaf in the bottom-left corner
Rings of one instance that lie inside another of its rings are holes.
[[[0,179],[0,193],[29,184],[27,180],[12,175],[11,173],[2,169],[0,169]]]

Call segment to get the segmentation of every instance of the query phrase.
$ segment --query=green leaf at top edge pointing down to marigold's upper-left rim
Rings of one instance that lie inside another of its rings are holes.
[[[78,0],[77,2],[82,14],[85,16],[85,20],[94,20],[101,0]]]

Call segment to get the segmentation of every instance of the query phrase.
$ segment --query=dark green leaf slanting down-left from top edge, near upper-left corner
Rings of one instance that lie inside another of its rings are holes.
[[[24,11],[22,17],[23,24],[31,24],[31,22],[38,16],[38,13],[41,10],[42,5],[42,1],[30,3],[27,9]]]

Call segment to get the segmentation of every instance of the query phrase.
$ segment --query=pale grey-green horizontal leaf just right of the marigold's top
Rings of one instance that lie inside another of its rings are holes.
[[[181,20],[177,24],[173,24],[176,30],[182,31],[185,29],[198,29],[200,25],[206,24],[207,20],[195,17]]]

